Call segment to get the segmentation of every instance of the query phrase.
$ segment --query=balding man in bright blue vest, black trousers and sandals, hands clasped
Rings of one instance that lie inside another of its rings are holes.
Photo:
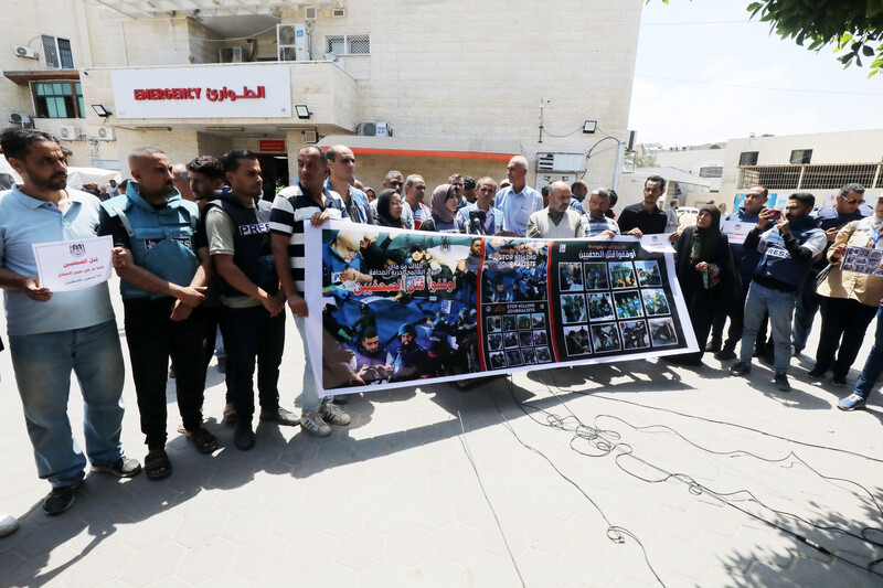
[[[204,248],[198,253],[195,245],[199,207],[174,188],[166,153],[140,147],[129,154],[129,168],[135,181],[126,195],[102,204],[99,234],[114,239],[126,342],[148,448],[145,473],[159,480],[172,472],[166,453],[170,356],[188,439],[202,453],[217,448],[201,413],[206,338],[200,303],[212,269]]]

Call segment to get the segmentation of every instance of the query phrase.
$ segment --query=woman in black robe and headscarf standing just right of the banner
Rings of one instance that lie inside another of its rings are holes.
[[[684,229],[675,250],[678,282],[681,285],[699,351],[675,355],[675,363],[700,365],[715,312],[725,310],[742,291],[726,235],[721,233],[721,211],[713,204],[699,210],[695,226]]]

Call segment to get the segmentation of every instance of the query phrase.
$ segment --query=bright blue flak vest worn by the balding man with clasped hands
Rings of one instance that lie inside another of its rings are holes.
[[[129,182],[125,195],[103,202],[102,207],[123,223],[137,266],[178,286],[190,286],[200,265],[194,242],[199,207],[194,202],[175,190],[166,206],[157,210],[138,193],[138,184]],[[126,280],[120,280],[119,290],[124,300],[164,296]]]

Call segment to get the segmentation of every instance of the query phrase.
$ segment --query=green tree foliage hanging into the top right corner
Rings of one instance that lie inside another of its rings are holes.
[[[844,67],[864,60],[869,77],[883,71],[883,0],[760,0],[746,10],[810,51],[833,45]]]

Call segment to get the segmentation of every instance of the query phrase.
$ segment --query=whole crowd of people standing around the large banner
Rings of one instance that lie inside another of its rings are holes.
[[[511,159],[507,179],[499,185],[490,177],[474,180],[451,174],[430,192],[427,205],[424,179],[405,178],[397,171],[386,174],[375,197],[373,189],[355,179],[355,157],[342,145],[327,151],[317,146],[300,148],[298,181],[277,191],[272,202],[265,197],[257,156],[245,150],[231,150],[221,159],[198,156],[173,165],[160,149],[135,149],[128,157],[131,179],[114,185],[115,194],[105,199],[66,186],[66,159],[57,139],[49,133],[9,129],[0,136],[0,147],[23,181],[0,193],[0,288],[6,290],[9,346],[38,472],[52,487],[43,501],[43,510],[51,515],[71,506],[87,464],[66,411],[72,371],[86,405],[85,452],[93,470],[132,477],[142,467],[120,445],[124,363],[108,284],[58,292],[44,288],[32,250],[38,243],[103,235],[113,240],[147,446],[143,471],[151,480],[172,473],[166,451],[170,361],[179,430],[200,452],[219,447],[202,413],[206,371],[216,343],[223,342],[226,352],[224,420],[235,425],[233,443],[238,449],[255,445],[255,372],[259,420],[299,425],[315,436],[330,435],[331,426],[350,423],[345,400],[320,396],[312,375],[305,319],[322,309],[308,308],[304,298],[307,223],[319,226],[337,218],[436,233],[531,238],[640,238],[669,233],[677,243],[677,276],[701,345],[698,353],[674,361],[701,362],[709,336],[709,349],[719,359],[736,359],[735,342],[741,340],[738,362],[731,372],[744,375],[751,371],[753,355],[763,359],[767,350],[775,350],[775,382],[783,391],[788,389],[791,353],[806,345],[817,308],[822,317],[821,343],[809,375],[823,377],[830,370],[837,385],[845,384],[864,331],[875,313],[883,313],[883,307],[877,309],[883,277],[839,268],[848,246],[877,248],[877,235],[883,234],[883,199],[873,210],[862,206],[864,190],[858,184],[844,186],[833,206],[816,214],[811,214],[812,195],[792,194],[781,217],[778,211],[766,209],[767,191],[752,188],[728,218],[756,226],[744,243],[730,244],[714,206],[703,207],[694,226],[671,231],[671,216],[658,206],[666,190],[666,180],[658,175],[647,179],[642,202],[626,206],[616,217],[617,194],[611,189],[589,193],[582,181],[553,182],[542,193],[528,186],[523,157]],[[345,259],[348,252],[359,252],[363,245],[343,239],[336,243],[336,250]],[[412,257],[418,254],[412,252]],[[584,277],[589,284],[607,280],[606,272],[588,268],[583,276],[577,267],[562,269],[563,282],[582,285]],[[661,284],[658,266],[641,269],[642,285]],[[634,277],[621,279],[630,279],[634,286]],[[504,300],[514,299],[513,291],[500,290]],[[585,321],[584,302],[571,308],[566,301],[563,310],[571,314],[568,321]],[[616,312],[617,318],[628,319],[640,316],[640,304],[637,296],[615,301],[600,297],[592,300],[589,311],[593,316]],[[792,321],[795,307],[798,313]],[[278,387],[289,311],[304,344],[304,381],[295,399],[300,415],[283,407]],[[433,324],[439,340],[451,332],[465,342],[475,339],[474,316],[460,311],[459,319],[455,324],[436,318]],[[728,336],[723,342],[727,319]],[[772,342],[766,341],[767,323]],[[614,345],[615,325],[610,332],[604,325],[593,329],[596,339]],[[646,346],[643,323],[628,329],[627,345]],[[567,345],[586,349],[587,331],[572,331]],[[359,332],[359,357],[347,373],[354,384],[404,378],[406,368],[417,365],[423,355],[437,354],[435,349],[417,345],[414,327],[404,324],[397,333],[402,351],[396,359],[374,361],[376,329],[369,325]],[[653,332],[653,336],[662,335]],[[882,338],[883,320],[879,320],[879,344],[855,392],[840,402],[840,408],[864,404],[883,366]],[[471,371],[475,348],[475,342],[464,344],[469,353],[446,355],[451,373]]]

